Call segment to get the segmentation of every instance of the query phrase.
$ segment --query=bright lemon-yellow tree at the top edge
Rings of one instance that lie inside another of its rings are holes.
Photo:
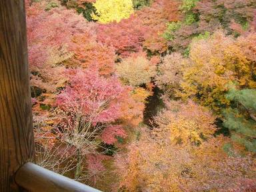
[[[93,3],[97,14],[92,14],[92,18],[100,23],[111,23],[127,19],[133,13],[132,0],[97,0]]]

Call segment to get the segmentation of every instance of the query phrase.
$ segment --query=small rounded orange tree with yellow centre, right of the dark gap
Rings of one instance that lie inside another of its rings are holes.
[[[165,105],[166,109],[155,117],[159,126],[155,133],[160,131],[159,134],[168,135],[171,143],[180,145],[199,145],[213,135],[215,117],[204,107],[193,101],[166,101]]]

